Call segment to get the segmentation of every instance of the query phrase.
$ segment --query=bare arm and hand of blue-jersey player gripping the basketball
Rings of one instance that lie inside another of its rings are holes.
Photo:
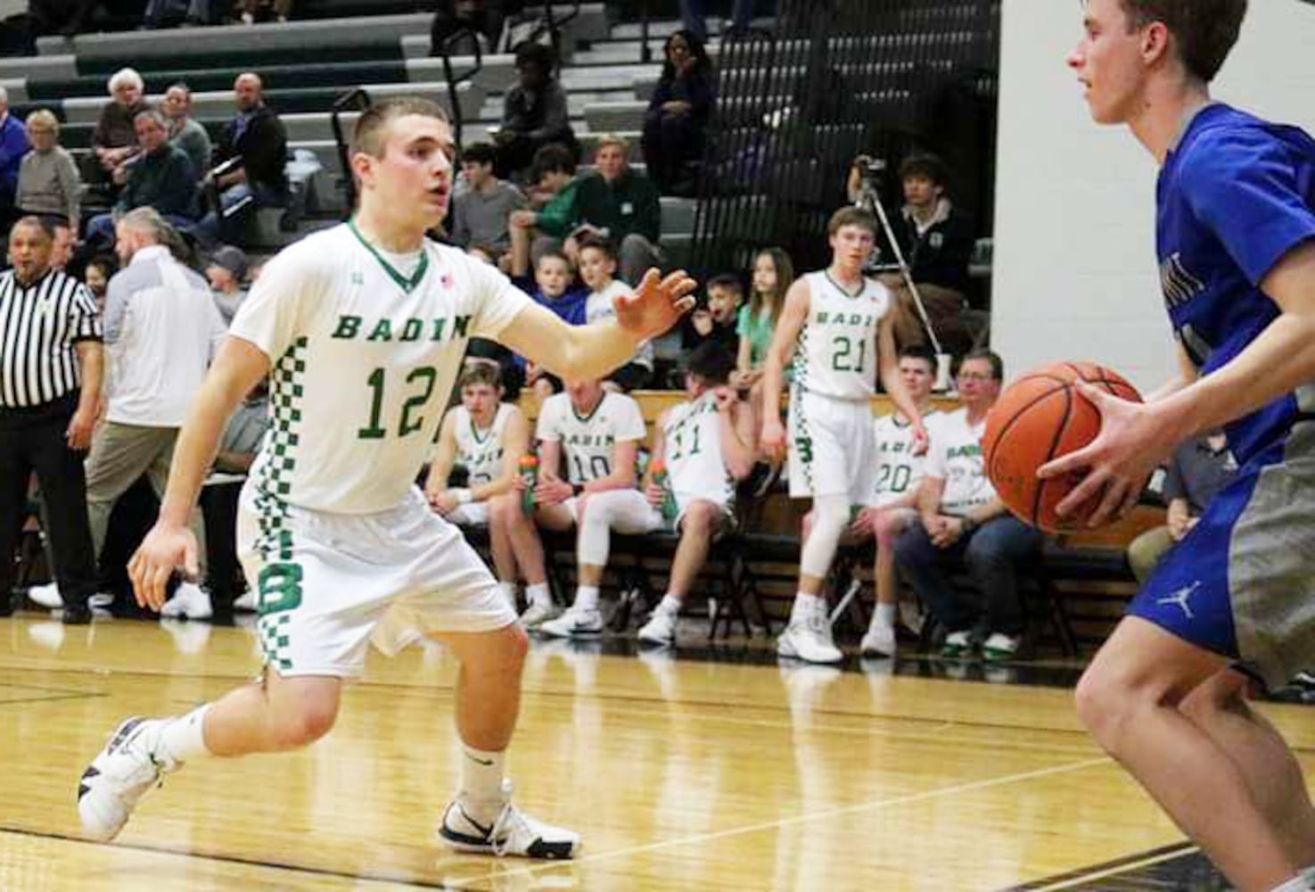
[[[1172,396],[1127,403],[1082,385],[1101,410],[1101,433],[1086,447],[1039,471],[1043,478],[1090,468],[1057,505],[1066,514],[1105,489],[1098,526],[1131,510],[1152,471],[1187,437],[1223,426],[1315,380],[1315,239],[1289,251],[1260,283],[1279,316],[1230,362]]]

